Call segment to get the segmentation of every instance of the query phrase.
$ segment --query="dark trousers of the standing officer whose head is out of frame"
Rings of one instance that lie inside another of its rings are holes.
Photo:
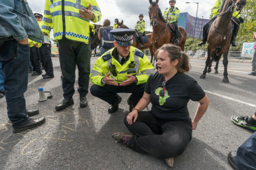
[[[91,47],[84,42],[72,41],[67,38],[59,40],[59,60],[63,74],[63,97],[71,98],[74,93],[76,80],[76,66],[78,67],[78,93],[85,97],[89,88],[89,75],[91,72]]]

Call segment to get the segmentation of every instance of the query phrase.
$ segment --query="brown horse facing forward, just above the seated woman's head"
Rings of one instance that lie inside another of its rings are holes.
[[[172,35],[170,27],[168,26],[168,23],[165,22],[161,10],[158,6],[158,0],[156,0],[156,2],[152,2],[152,0],[149,0],[149,3],[150,7],[148,8],[148,14],[150,18],[150,25],[152,25],[153,27],[153,49],[154,51],[156,51],[163,44],[168,44],[172,39]],[[179,47],[182,51],[184,51],[187,33],[183,27],[178,26],[178,29],[181,33]]]

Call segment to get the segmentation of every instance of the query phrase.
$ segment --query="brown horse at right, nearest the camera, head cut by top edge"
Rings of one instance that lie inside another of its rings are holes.
[[[207,67],[212,58],[214,61],[219,61],[223,54],[224,77],[222,82],[229,83],[228,80],[228,51],[230,48],[230,40],[232,37],[233,25],[231,23],[234,8],[241,11],[246,4],[246,0],[223,0],[221,6],[221,13],[211,24],[208,33],[208,57],[206,59],[206,66],[200,79],[205,79]]]

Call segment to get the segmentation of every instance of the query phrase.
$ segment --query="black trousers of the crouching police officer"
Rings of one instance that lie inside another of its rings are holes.
[[[64,75],[65,76],[65,75]],[[113,104],[116,99],[117,93],[132,93],[130,95],[130,101],[136,105],[144,93],[146,83],[139,84],[139,85],[128,85],[128,86],[98,86],[96,84],[93,84],[91,86],[91,94],[95,97],[98,97],[106,102],[108,104]]]

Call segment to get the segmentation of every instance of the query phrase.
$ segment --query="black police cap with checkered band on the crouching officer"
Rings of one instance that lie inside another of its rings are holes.
[[[118,28],[118,29],[112,29],[110,33],[115,38],[117,44],[120,46],[131,46],[134,42],[132,40],[133,35],[135,34],[134,29],[128,29],[128,28]]]

